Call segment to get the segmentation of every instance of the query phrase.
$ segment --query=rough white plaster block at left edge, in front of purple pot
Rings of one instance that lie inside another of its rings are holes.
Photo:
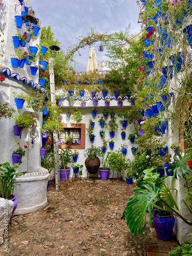
[[[7,238],[7,226],[13,211],[13,201],[0,198],[0,245]],[[4,233],[5,232],[5,233]]]

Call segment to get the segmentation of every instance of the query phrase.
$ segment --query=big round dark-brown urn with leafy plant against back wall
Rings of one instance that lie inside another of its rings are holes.
[[[100,147],[91,145],[91,147],[86,148],[84,151],[84,157],[87,157],[84,164],[90,174],[96,174],[98,172],[100,160],[97,156],[102,156]]]

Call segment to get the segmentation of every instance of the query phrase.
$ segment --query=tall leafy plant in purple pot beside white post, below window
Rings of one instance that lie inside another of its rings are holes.
[[[66,148],[66,150],[62,147],[60,147],[62,150],[62,154],[59,154],[59,160],[60,160],[60,180],[66,181],[69,179],[69,174],[71,168],[69,167],[70,163],[74,163],[71,161],[71,157],[73,156],[72,151],[69,149],[69,147]],[[64,163],[63,163],[64,162]]]

